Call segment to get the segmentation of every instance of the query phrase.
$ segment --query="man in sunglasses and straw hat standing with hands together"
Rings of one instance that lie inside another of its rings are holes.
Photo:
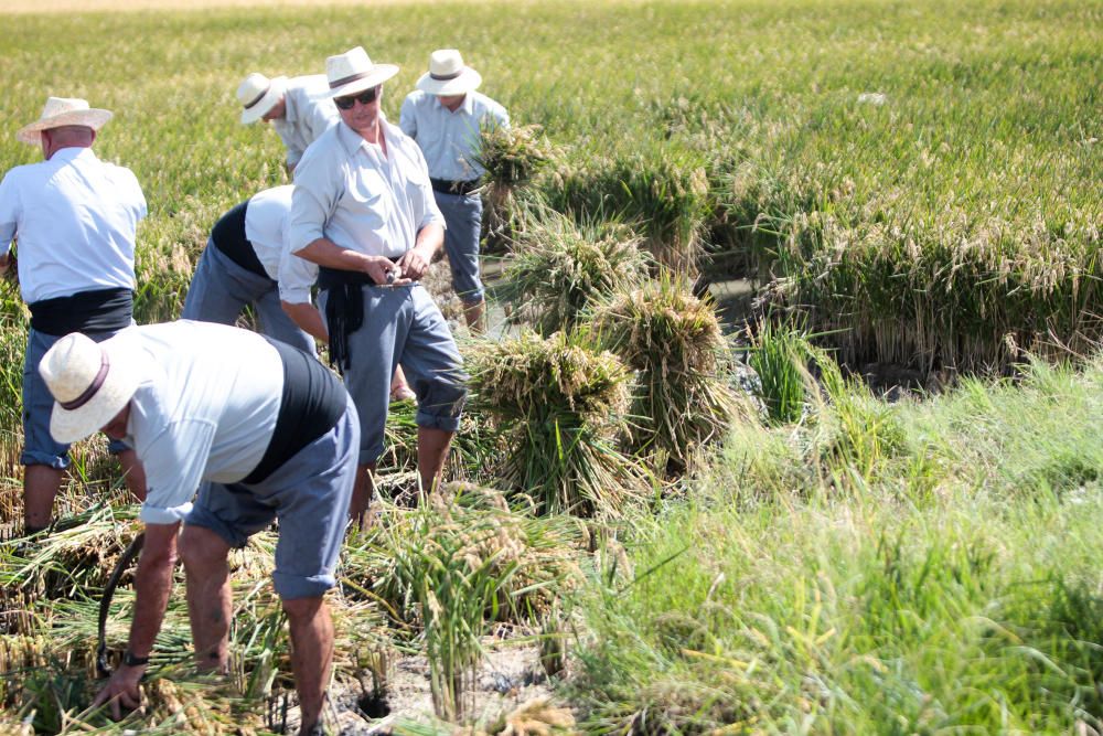
[[[325,62],[341,122],[295,170],[288,246],[321,266],[330,355],[361,416],[354,516],[366,512],[371,472],[383,452],[389,377],[401,364],[418,397],[418,471],[440,476],[467,396],[452,333],[421,288],[443,241],[420,149],[379,108],[383,83],[398,73],[360,46]],[[363,520],[363,519],[362,519]]]

